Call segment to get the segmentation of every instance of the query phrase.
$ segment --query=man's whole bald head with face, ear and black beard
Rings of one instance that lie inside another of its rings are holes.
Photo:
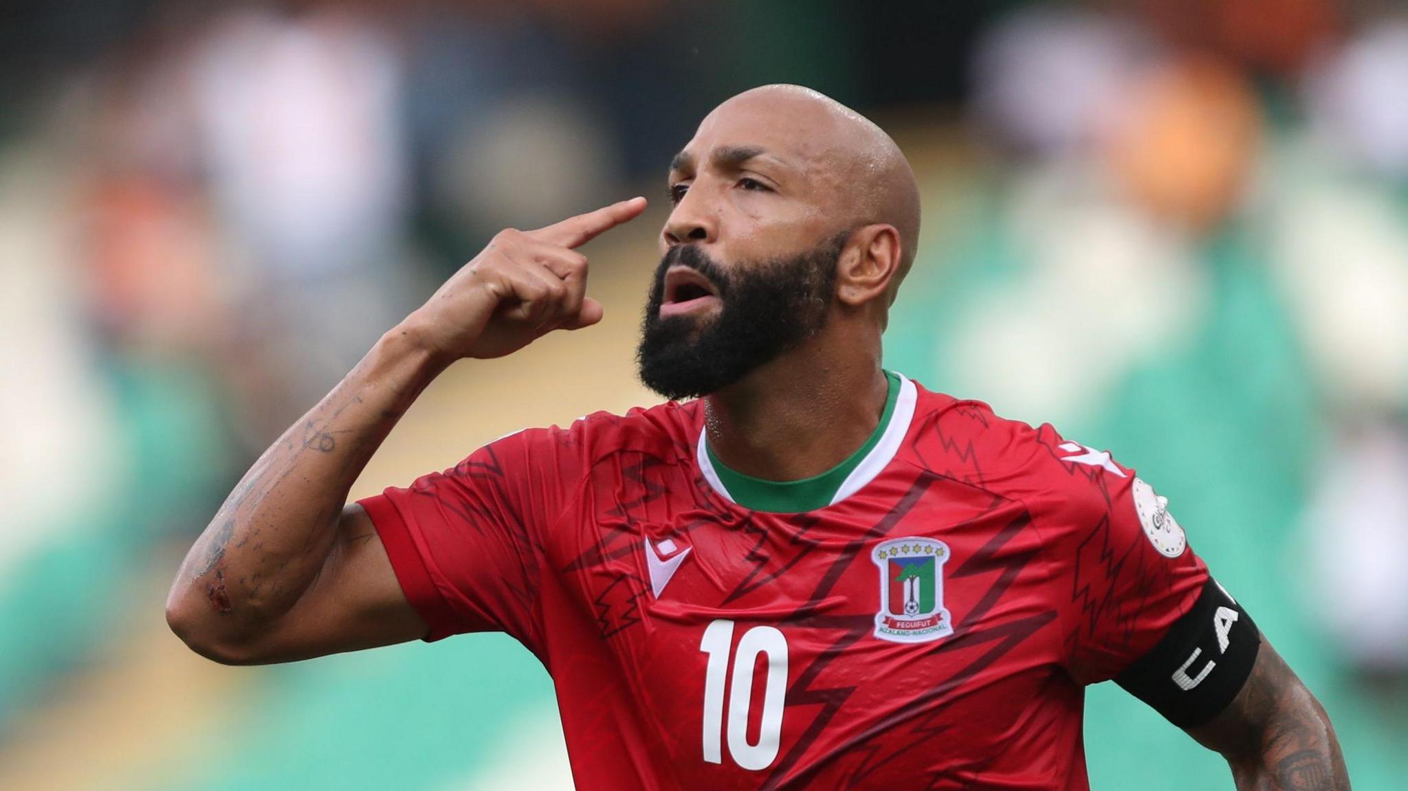
[[[670,398],[715,393],[793,350],[879,366],[919,236],[890,135],[814,90],[758,87],[700,122],[669,184],[642,381]]]

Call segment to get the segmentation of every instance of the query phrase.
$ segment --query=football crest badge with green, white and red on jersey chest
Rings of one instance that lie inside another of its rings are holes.
[[[876,636],[895,643],[926,643],[953,633],[943,608],[943,564],[949,545],[929,538],[881,542],[870,553],[880,567]]]

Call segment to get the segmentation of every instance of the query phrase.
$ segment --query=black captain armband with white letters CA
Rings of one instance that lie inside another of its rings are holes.
[[[1193,609],[1115,683],[1169,722],[1193,728],[1232,702],[1260,647],[1252,616],[1209,578]]]

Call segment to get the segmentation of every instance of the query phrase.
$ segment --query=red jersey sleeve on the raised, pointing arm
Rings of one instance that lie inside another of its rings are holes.
[[[580,469],[577,435],[527,429],[406,488],[359,500],[427,642],[500,631],[543,657],[538,583],[543,536]]]

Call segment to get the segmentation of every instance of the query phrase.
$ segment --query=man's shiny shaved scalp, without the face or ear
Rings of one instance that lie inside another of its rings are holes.
[[[838,227],[893,225],[903,256],[890,300],[914,263],[919,241],[919,187],[900,146],[874,121],[839,101],[796,84],[745,90],[714,108],[705,128],[748,118],[769,137],[790,141],[818,186],[831,187]]]

